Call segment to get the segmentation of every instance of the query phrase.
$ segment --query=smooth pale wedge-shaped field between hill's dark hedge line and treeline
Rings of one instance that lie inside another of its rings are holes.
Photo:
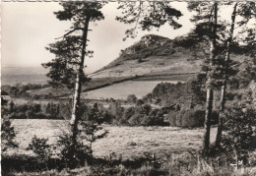
[[[127,81],[109,87],[84,92],[82,93],[82,97],[88,99],[126,99],[129,94],[135,94],[138,98],[142,98],[146,94],[152,92],[152,90],[161,82],[162,81]],[[176,81],[164,82],[177,83]]]

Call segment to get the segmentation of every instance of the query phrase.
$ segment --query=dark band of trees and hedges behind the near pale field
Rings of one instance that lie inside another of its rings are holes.
[[[202,127],[204,108],[199,104],[195,106],[195,99],[199,101],[200,98],[203,101],[195,91],[193,82],[161,83],[142,99],[130,94],[125,101],[110,99],[108,107],[100,103],[92,106],[86,101],[82,102],[79,116],[82,120],[88,120],[92,113],[96,113],[100,123],[125,126]],[[154,104],[160,107],[156,108]],[[10,102],[2,107],[2,114],[10,119],[69,119],[71,102],[29,102],[22,105]],[[215,114],[214,121],[217,119]]]

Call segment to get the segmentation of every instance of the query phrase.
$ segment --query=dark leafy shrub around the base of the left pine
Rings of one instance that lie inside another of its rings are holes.
[[[87,161],[90,163],[93,159],[93,143],[96,140],[106,137],[107,131],[99,125],[100,120],[97,104],[88,114],[88,120],[80,121],[78,124],[76,139],[73,133],[60,136],[57,147],[60,150],[60,158],[64,165],[69,168],[83,166]]]

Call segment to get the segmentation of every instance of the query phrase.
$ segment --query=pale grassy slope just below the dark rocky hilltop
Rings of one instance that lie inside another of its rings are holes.
[[[92,78],[130,77],[168,72],[169,74],[184,74],[200,71],[202,60],[187,61],[189,56],[151,56],[142,63],[135,60],[125,60],[114,67],[92,74]]]

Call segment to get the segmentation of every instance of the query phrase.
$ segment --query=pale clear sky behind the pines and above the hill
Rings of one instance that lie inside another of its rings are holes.
[[[189,21],[192,14],[186,9],[186,2],[172,2],[172,7],[183,16],[178,22],[181,29],[171,29],[168,25],[159,30],[140,31],[136,38],[125,37],[125,30],[132,28],[115,21],[120,13],[117,2],[109,2],[102,8],[103,21],[90,24],[88,49],[95,51],[93,58],[86,58],[88,73],[94,72],[116,59],[121,49],[129,47],[145,34],[159,34],[173,39],[193,28]],[[70,28],[70,22],[56,19],[53,12],[61,10],[57,2],[3,2],[1,5],[1,64],[2,67],[40,67],[54,55],[45,47],[56,41]]]

